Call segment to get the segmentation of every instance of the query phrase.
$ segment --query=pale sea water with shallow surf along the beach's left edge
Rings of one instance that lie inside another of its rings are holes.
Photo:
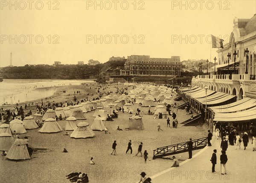
[[[4,79],[0,82],[0,104],[16,104],[52,96],[56,87],[94,82],[61,79]]]

